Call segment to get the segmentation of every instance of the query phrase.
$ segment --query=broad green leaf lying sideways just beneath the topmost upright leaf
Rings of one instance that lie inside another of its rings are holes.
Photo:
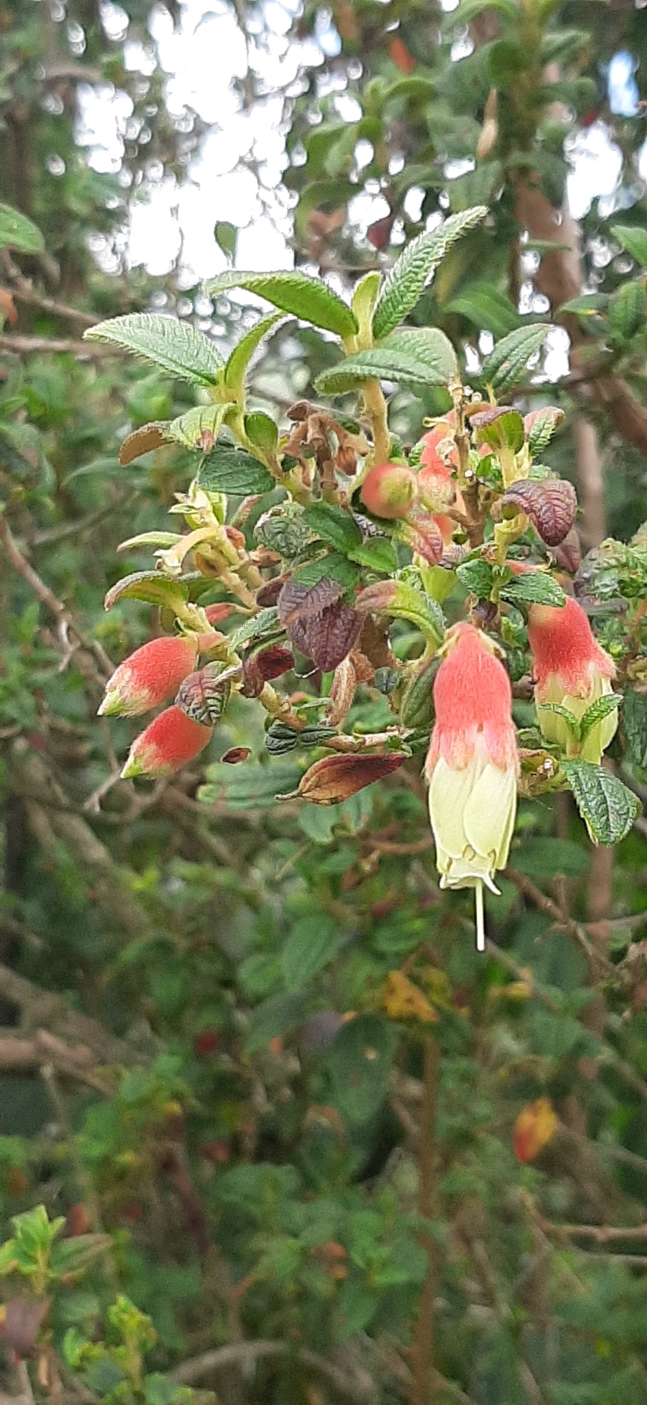
[[[363,381],[406,385],[448,385],[458,372],[452,343],[438,327],[403,327],[387,341],[348,355],[321,371],[314,385],[321,395],[345,395]]]

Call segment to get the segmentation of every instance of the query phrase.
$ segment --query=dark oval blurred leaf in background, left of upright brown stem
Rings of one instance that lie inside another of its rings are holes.
[[[397,1030],[379,1014],[344,1024],[327,1058],[333,1103],[349,1123],[365,1123],[386,1097]]]

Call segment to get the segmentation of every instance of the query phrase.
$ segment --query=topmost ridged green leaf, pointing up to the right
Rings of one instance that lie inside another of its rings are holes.
[[[383,339],[415,308],[434,270],[448,249],[480,225],[487,215],[486,205],[451,215],[439,229],[418,235],[406,246],[383,284],[373,315],[373,334]]]

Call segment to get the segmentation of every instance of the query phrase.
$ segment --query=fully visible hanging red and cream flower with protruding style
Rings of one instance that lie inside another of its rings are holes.
[[[512,690],[495,646],[474,625],[449,629],[434,683],[425,776],[441,888],[476,889],[476,946],[486,950],[483,884],[498,894],[516,815]]]

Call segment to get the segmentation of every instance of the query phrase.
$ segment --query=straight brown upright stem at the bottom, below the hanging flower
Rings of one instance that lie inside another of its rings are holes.
[[[436,1210],[436,1142],[435,1118],[438,1100],[438,1072],[441,1051],[432,1034],[422,1041],[422,1104],[420,1114],[420,1214],[432,1220]],[[413,1346],[413,1375],[410,1405],[431,1405],[434,1388],[434,1298],[436,1283],[436,1246],[428,1231],[420,1236],[427,1253],[427,1273],[418,1298]]]

